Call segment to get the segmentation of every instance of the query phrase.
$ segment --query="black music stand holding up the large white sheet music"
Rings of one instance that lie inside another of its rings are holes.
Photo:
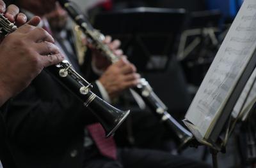
[[[243,88],[246,85],[246,82],[249,80],[253,70],[256,68],[256,53],[253,53],[253,57],[250,59],[248,65],[243,71],[243,75],[239,78],[239,81],[236,83],[236,87],[234,88],[230,98],[227,100],[225,107],[223,108],[223,115],[216,122],[216,126],[214,127],[214,132],[212,132],[211,137],[209,138],[209,142],[204,145],[209,146],[212,154],[212,164],[214,168],[218,168],[218,159],[217,154],[219,152],[225,153],[227,141],[234,130],[234,126],[237,123],[237,119],[233,120],[232,111],[234,106],[236,105],[239,96],[243,92]],[[255,108],[255,104],[253,106]],[[243,109],[243,107],[242,107]],[[252,109],[253,110],[253,109]],[[223,136],[224,134],[224,136]],[[191,146],[200,146],[202,144],[198,143],[196,139],[195,141],[191,141]]]

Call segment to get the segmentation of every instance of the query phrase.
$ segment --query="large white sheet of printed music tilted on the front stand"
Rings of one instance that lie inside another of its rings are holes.
[[[255,50],[255,15],[245,0],[186,114],[206,139]]]

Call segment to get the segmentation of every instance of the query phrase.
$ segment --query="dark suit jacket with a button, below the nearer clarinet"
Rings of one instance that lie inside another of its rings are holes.
[[[19,167],[83,166],[84,127],[96,120],[45,71],[10,102],[8,113],[3,114]]]

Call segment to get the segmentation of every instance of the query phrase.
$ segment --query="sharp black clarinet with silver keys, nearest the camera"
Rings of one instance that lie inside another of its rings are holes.
[[[17,27],[11,23],[2,14],[0,15],[0,34],[7,36],[17,30]],[[116,129],[124,122],[129,115],[128,111],[121,111],[108,102],[103,101],[91,91],[92,85],[78,74],[72,65],[63,60],[55,66],[45,68],[61,85],[70,90],[76,97],[83,102],[84,106],[93,112],[106,132],[106,137],[113,135]]]

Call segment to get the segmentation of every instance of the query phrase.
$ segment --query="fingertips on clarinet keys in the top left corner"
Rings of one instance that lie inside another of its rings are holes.
[[[0,0],[0,13],[5,13],[4,16],[10,20],[10,22],[15,22],[16,25],[20,26],[27,22],[27,17],[24,13],[19,13],[19,8],[14,4],[7,7],[4,1]]]

